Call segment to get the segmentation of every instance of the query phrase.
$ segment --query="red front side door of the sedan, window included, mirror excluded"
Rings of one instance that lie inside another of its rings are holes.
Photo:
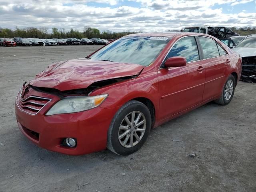
[[[202,102],[205,65],[200,60],[195,37],[187,36],[178,40],[165,60],[174,56],[185,57],[187,65],[158,70],[161,119]]]

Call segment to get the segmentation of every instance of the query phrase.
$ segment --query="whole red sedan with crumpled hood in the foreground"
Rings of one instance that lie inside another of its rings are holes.
[[[131,34],[24,83],[16,118],[48,150],[128,155],[151,128],[213,100],[228,104],[241,70],[240,56],[206,34]]]

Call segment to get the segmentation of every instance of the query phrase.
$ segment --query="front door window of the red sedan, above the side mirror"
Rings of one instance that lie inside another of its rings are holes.
[[[185,57],[187,62],[199,60],[198,48],[194,37],[184,37],[174,44],[167,58]],[[167,59],[166,58],[166,59]]]

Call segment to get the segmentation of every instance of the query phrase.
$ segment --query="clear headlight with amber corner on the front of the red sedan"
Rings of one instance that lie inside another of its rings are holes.
[[[108,94],[97,96],[67,97],[54,104],[46,115],[75,113],[89,110],[99,106],[107,98],[107,96]]]

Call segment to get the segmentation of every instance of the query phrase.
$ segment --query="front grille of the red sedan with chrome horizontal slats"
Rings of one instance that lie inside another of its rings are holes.
[[[26,99],[20,98],[20,107],[24,112],[28,114],[35,115],[37,114],[48,102],[50,99],[36,97],[36,96],[29,96]]]

